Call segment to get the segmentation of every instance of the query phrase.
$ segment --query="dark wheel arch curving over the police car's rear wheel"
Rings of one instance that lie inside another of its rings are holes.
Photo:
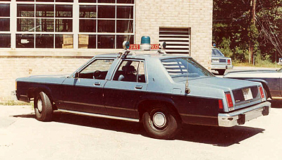
[[[176,113],[176,117],[178,118],[179,121],[182,121],[182,119],[181,119],[181,117],[180,117],[176,107],[173,106],[173,104],[171,104],[171,103],[169,103],[167,101],[157,101],[157,100],[142,101],[138,105],[138,113],[139,113],[140,121],[142,121],[143,113],[145,113],[145,111],[149,111],[150,109],[152,109],[152,106],[155,105],[155,104],[164,104],[169,109],[171,109],[174,113]]]

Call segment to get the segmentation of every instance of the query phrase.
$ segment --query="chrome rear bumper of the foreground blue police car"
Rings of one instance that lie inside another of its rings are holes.
[[[245,122],[255,119],[259,116],[269,115],[270,109],[271,103],[269,101],[264,101],[246,109],[233,111],[232,113],[219,113],[219,126],[232,127],[234,125],[243,125]]]

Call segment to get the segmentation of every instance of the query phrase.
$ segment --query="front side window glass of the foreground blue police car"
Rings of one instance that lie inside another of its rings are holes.
[[[97,59],[80,71],[78,78],[104,80],[114,59]]]

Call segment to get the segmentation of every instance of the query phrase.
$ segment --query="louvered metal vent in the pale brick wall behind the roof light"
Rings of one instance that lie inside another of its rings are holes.
[[[190,28],[159,28],[159,42],[166,42],[167,54],[190,55]]]

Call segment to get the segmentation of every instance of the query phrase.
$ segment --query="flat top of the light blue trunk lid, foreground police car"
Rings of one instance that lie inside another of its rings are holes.
[[[250,82],[247,80],[235,80],[235,79],[228,79],[228,78],[201,78],[195,80],[189,80],[189,85],[204,87],[204,88],[214,88],[214,89],[221,89],[224,92],[228,92],[231,90],[250,87],[259,85],[258,82]]]

